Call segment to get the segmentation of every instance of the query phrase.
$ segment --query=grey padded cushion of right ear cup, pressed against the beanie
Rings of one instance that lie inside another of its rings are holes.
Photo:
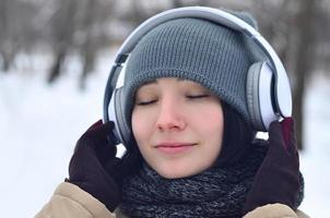
[[[263,130],[259,104],[259,80],[263,62],[254,63],[247,74],[246,98],[250,122],[256,130]]]

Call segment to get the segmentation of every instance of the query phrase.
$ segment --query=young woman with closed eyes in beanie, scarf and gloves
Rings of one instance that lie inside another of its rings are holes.
[[[127,154],[116,157],[114,122],[96,122],[36,217],[307,217],[297,210],[293,120],[273,121],[269,140],[256,140],[246,98],[254,61],[243,34],[210,21],[150,31],[127,63]]]

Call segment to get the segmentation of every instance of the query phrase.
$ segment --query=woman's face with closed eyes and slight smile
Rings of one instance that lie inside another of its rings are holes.
[[[158,78],[138,89],[132,130],[155,171],[167,179],[189,177],[217,158],[223,111],[220,100],[198,83]]]

